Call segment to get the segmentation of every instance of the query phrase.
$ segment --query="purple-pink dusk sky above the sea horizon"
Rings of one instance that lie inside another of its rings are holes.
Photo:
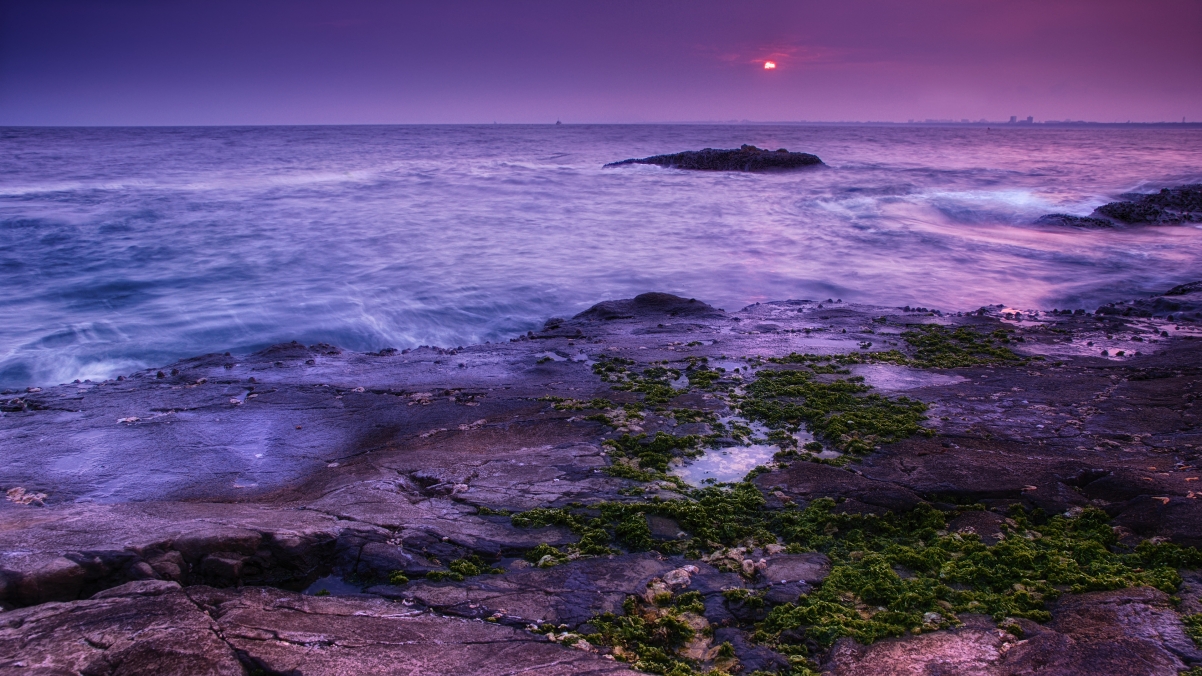
[[[1200,0],[0,0],[0,124],[1202,121],[1200,34]]]

